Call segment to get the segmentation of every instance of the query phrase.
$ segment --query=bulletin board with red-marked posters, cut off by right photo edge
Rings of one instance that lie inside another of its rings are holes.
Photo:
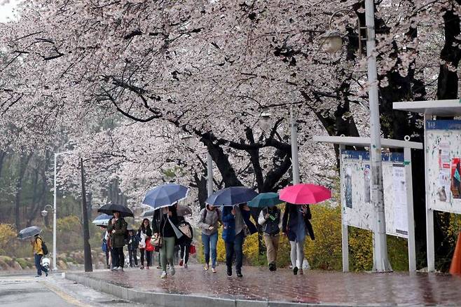
[[[461,214],[461,121],[426,121],[427,207]]]

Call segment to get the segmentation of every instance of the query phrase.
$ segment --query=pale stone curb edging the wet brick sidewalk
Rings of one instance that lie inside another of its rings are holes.
[[[64,278],[78,282],[98,292],[111,294],[125,301],[135,303],[155,304],[161,307],[357,307],[359,305],[342,303],[291,303],[284,301],[252,301],[244,299],[221,299],[219,297],[197,296],[188,294],[168,294],[160,292],[142,292],[135,289],[113,285],[104,280],[90,278],[78,273],[64,273]],[[366,305],[371,307],[376,305]],[[385,306],[385,305],[378,305]]]

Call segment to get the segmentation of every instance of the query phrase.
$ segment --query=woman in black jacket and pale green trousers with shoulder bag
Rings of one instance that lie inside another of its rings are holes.
[[[155,219],[155,214],[154,214]],[[174,245],[177,238],[181,237],[181,232],[177,228],[178,215],[176,204],[160,209],[160,223],[153,223],[153,236],[160,236],[162,246],[160,247],[160,263],[162,266],[162,275],[160,278],[167,277],[167,262],[170,265],[170,275],[174,275]]]

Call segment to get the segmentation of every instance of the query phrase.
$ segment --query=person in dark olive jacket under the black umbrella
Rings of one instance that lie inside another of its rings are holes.
[[[125,266],[125,255],[123,254],[123,246],[125,246],[125,233],[128,224],[120,216],[120,212],[114,211],[113,218],[107,226],[107,231],[111,235],[112,247],[112,271],[123,271]]]

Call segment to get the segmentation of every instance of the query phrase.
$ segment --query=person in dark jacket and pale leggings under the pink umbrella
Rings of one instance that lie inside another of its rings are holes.
[[[312,214],[310,214],[309,205],[293,205],[287,203],[283,214],[282,230],[288,237],[291,245],[291,266],[294,275],[303,274],[304,259],[304,240],[306,234],[312,240],[315,240],[312,224],[310,224]]]

